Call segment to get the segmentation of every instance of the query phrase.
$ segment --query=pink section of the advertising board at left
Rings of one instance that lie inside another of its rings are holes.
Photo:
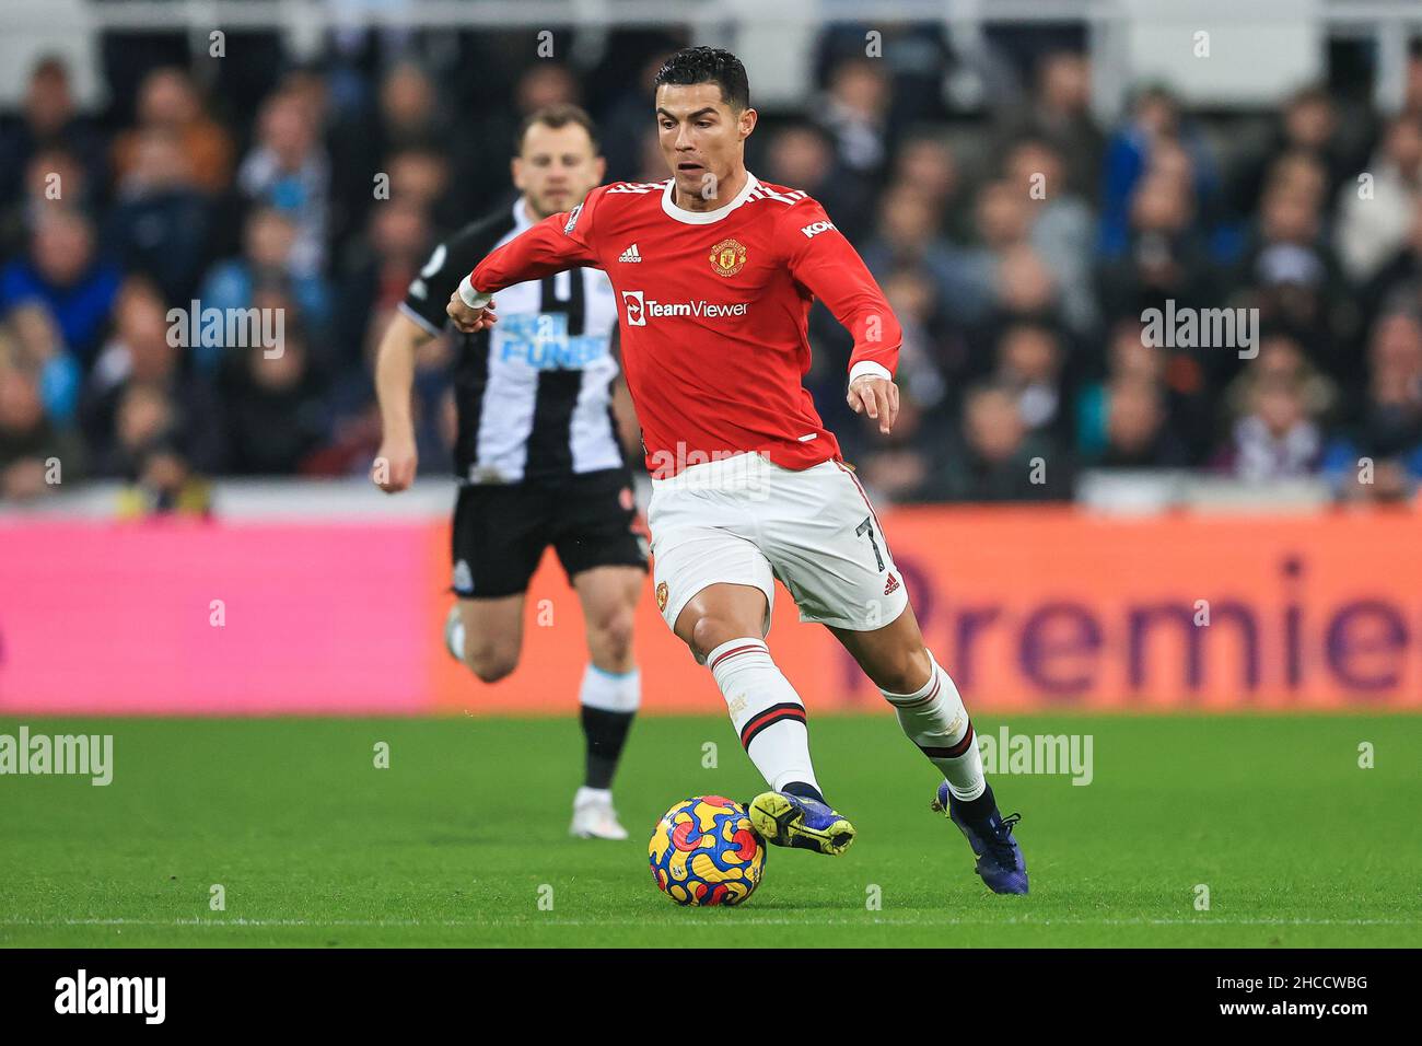
[[[431,529],[0,524],[0,714],[425,712]]]

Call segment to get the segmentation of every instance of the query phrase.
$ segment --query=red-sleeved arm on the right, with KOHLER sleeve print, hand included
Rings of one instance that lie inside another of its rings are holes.
[[[859,252],[825,209],[812,199],[789,208],[781,216],[779,242],[791,275],[822,300],[855,339],[849,357],[846,398],[856,414],[869,414],[887,434],[899,417],[899,366],[903,332],[879,283]]]

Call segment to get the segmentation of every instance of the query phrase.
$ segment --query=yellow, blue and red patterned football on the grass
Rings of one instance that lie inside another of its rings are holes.
[[[724,796],[698,796],[671,807],[647,845],[651,878],[680,905],[735,905],[755,892],[765,844],[745,807]]]

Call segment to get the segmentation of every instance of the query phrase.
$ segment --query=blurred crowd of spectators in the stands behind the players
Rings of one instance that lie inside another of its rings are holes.
[[[825,205],[903,324],[884,440],[845,406],[848,336],[820,306],[811,323],[806,380],[880,498],[1059,500],[1086,468],[1411,497],[1422,51],[1399,112],[1317,85],[1241,121],[1142,84],[1102,127],[1078,48],[1005,56],[1005,85],[964,105],[936,27],[886,31],[882,57],[863,41],[823,33],[816,83],[762,112],[748,165]],[[614,33],[577,65],[522,37],[351,33],[293,63],[260,36],[218,60],[117,37],[102,112],[41,58],[0,121],[0,498],[53,490],[55,460],[158,505],[203,477],[364,474],[374,349],[432,245],[512,199],[519,120],[583,104],[609,179],[660,181],[650,80],[683,43]],[[1253,344],[1156,344],[1167,302],[1257,310]],[[282,309],[284,352],[172,337],[195,305]],[[417,376],[431,474],[448,363],[435,340]]]

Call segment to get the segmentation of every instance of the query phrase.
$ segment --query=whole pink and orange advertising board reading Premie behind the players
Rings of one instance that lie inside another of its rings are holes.
[[[1422,710],[1413,515],[1099,518],[1075,509],[886,517],[924,635],[974,710]],[[523,659],[485,686],[441,643],[447,522],[0,528],[0,712],[566,712],[586,648],[549,556]],[[781,589],[771,649],[812,713],[876,707]],[[721,712],[651,599],[650,712]]]

